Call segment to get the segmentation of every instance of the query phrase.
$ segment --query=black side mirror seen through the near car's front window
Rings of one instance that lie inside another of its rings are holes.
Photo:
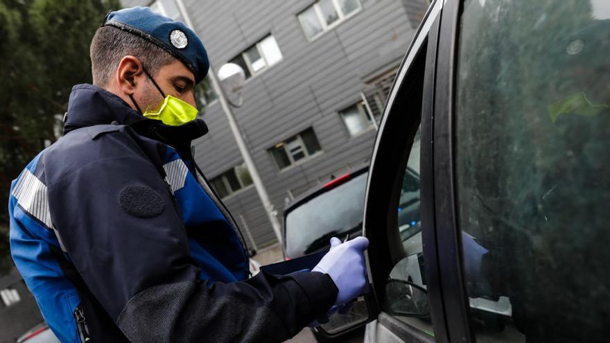
[[[385,283],[387,299],[384,309],[392,315],[406,317],[429,317],[428,291],[410,281],[389,279]]]

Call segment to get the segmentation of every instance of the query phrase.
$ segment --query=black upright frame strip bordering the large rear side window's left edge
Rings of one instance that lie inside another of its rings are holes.
[[[433,142],[426,164],[433,179],[433,218],[437,236],[439,285],[444,300],[447,337],[451,342],[476,342],[464,277],[462,234],[458,225],[455,179],[455,93],[460,17],[464,0],[446,0],[439,23],[432,120],[422,140]],[[424,157],[422,156],[422,164]],[[423,168],[423,167],[422,167]]]

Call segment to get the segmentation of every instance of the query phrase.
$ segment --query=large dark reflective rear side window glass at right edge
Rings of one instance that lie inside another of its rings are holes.
[[[458,222],[478,342],[607,342],[610,7],[467,0]]]

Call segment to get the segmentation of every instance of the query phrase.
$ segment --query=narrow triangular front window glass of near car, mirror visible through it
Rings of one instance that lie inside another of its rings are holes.
[[[392,267],[387,278],[385,299],[381,304],[387,313],[433,335],[421,244],[419,146],[418,130],[410,148],[397,204],[398,220],[395,229],[398,235],[394,236],[394,239],[401,240],[402,257]]]

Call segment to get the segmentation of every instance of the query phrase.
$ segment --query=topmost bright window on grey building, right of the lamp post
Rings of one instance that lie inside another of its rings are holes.
[[[297,17],[307,38],[313,40],[360,10],[360,0],[320,0]]]

